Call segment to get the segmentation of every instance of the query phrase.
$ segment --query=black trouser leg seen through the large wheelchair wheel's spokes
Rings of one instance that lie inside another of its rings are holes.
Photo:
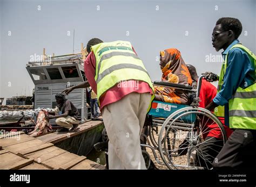
[[[205,167],[206,169],[212,168],[212,163],[215,157],[223,148],[223,139],[207,136],[205,141],[200,145],[196,153],[197,165]]]

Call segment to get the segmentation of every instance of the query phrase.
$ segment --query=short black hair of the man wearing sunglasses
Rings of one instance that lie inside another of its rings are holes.
[[[237,18],[219,18],[218,21],[216,22],[216,25],[219,24],[221,24],[224,31],[233,31],[235,39],[238,39],[239,35],[242,32],[242,24]]]

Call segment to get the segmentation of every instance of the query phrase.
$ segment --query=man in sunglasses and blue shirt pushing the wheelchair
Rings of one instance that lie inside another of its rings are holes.
[[[205,73],[209,82],[219,81],[218,93],[206,109],[234,130],[213,162],[215,169],[256,167],[255,55],[238,37],[242,25],[235,18],[220,18],[212,33],[212,45],[224,58],[220,75]]]

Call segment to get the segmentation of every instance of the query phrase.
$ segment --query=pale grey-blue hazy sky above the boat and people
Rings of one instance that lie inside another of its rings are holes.
[[[160,80],[159,52],[177,48],[198,74],[219,74],[221,52],[211,34],[221,17],[238,18],[240,42],[256,52],[255,0],[77,1],[0,0],[0,97],[32,95],[31,56],[75,52],[91,38],[130,41],[151,76]],[[5,103],[5,101],[4,101]]]

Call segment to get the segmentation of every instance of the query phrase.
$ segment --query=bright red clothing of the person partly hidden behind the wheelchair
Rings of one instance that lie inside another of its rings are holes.
[[[201,84],[200,94],[199,94],[199,98],[201,100],[201,102],[199,102],[199,107],[205,108],[208,104],[212,102],[213,98],[216,95],[217,95],[217,88],[215,88],[214,85],[212,85],[210,82],[207,82],[206,80],[203,79]],[[204,136],[203,138],[205,139],[206,136],[221,138],[222,136],[221,131],[219,128],[216,128],[218,127],[218,125],[213,124],[212,120],[208,120],[208,121],[207,120],[208,119],[204,119],[204,121],[202,121],[202,124],[206,123],[206,126],[203,127],[203,132],[204,131],[206,132],[206,133],[203,133],[203,136]],[[224,124],[224,118],[219,118],[219,120],[221,121],[222,124]],[[230,128],[228,128],[225,125],[224,125],[224,128],[226,130],[227,138],[228,138],[233,131],[230,130]]]

